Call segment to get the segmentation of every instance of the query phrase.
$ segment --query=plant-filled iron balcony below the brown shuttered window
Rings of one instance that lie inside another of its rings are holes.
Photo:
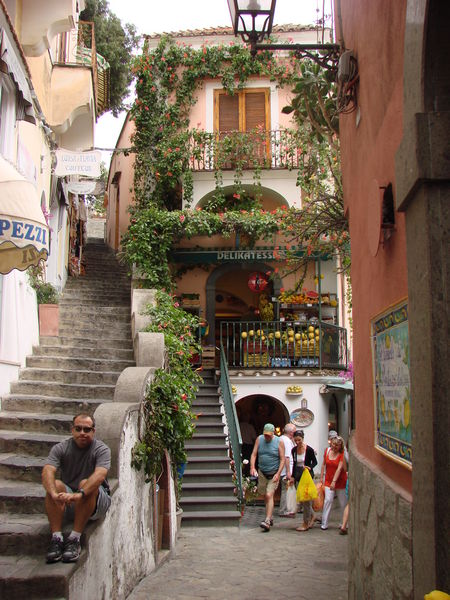
[[[249,132],[195,131],[190,140],[193,171],[297,169],[301,160],[299,134],[295,130]]]

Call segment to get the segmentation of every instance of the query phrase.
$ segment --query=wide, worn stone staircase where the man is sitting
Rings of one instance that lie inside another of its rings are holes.
[[[59,336],[41,338],[0,412],[0,598],[66,598],[76,564],[47,565],[49,527],[41,469],[70,435],[74,414],[109,402],[134,365],[130,281],[100,239],[85,250],[86,275],[68,280]]]

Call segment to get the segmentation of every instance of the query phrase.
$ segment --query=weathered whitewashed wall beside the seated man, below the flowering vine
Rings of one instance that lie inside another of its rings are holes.
[[[139,406],[128,408],[120,436],[119,485],[112,494],[111,508],[104,521],[88,537],[89,554],[70,579],[70,598],[125,599],[155,568],[151,486],[145,483],[142,472],[131,467],[130,461],[131,449],[138,439],[139,421]],[[173,547],[176,522],[172,479],[169,495]]]

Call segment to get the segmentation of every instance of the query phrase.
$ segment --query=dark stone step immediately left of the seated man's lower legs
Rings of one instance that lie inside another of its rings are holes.
[[[50,528],[46,515],[0,515],[0,563],[1,556],[14,554],[40,557],[44,562],[49,540]]]

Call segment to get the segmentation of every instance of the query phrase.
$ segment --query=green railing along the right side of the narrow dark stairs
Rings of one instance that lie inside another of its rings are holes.
[[[234,460],[235,484],[239,506],[244,504],[244,492],[242,489],[242,438],[239,429],[239,420],[236,414],[236,406],[231,391],[228,366],[225,359],[223,346],[220,346],[220,389],[222,392],[223,405],[225,408],[225,419],[228,427],[228,439],[231,447],[232,459]]]

